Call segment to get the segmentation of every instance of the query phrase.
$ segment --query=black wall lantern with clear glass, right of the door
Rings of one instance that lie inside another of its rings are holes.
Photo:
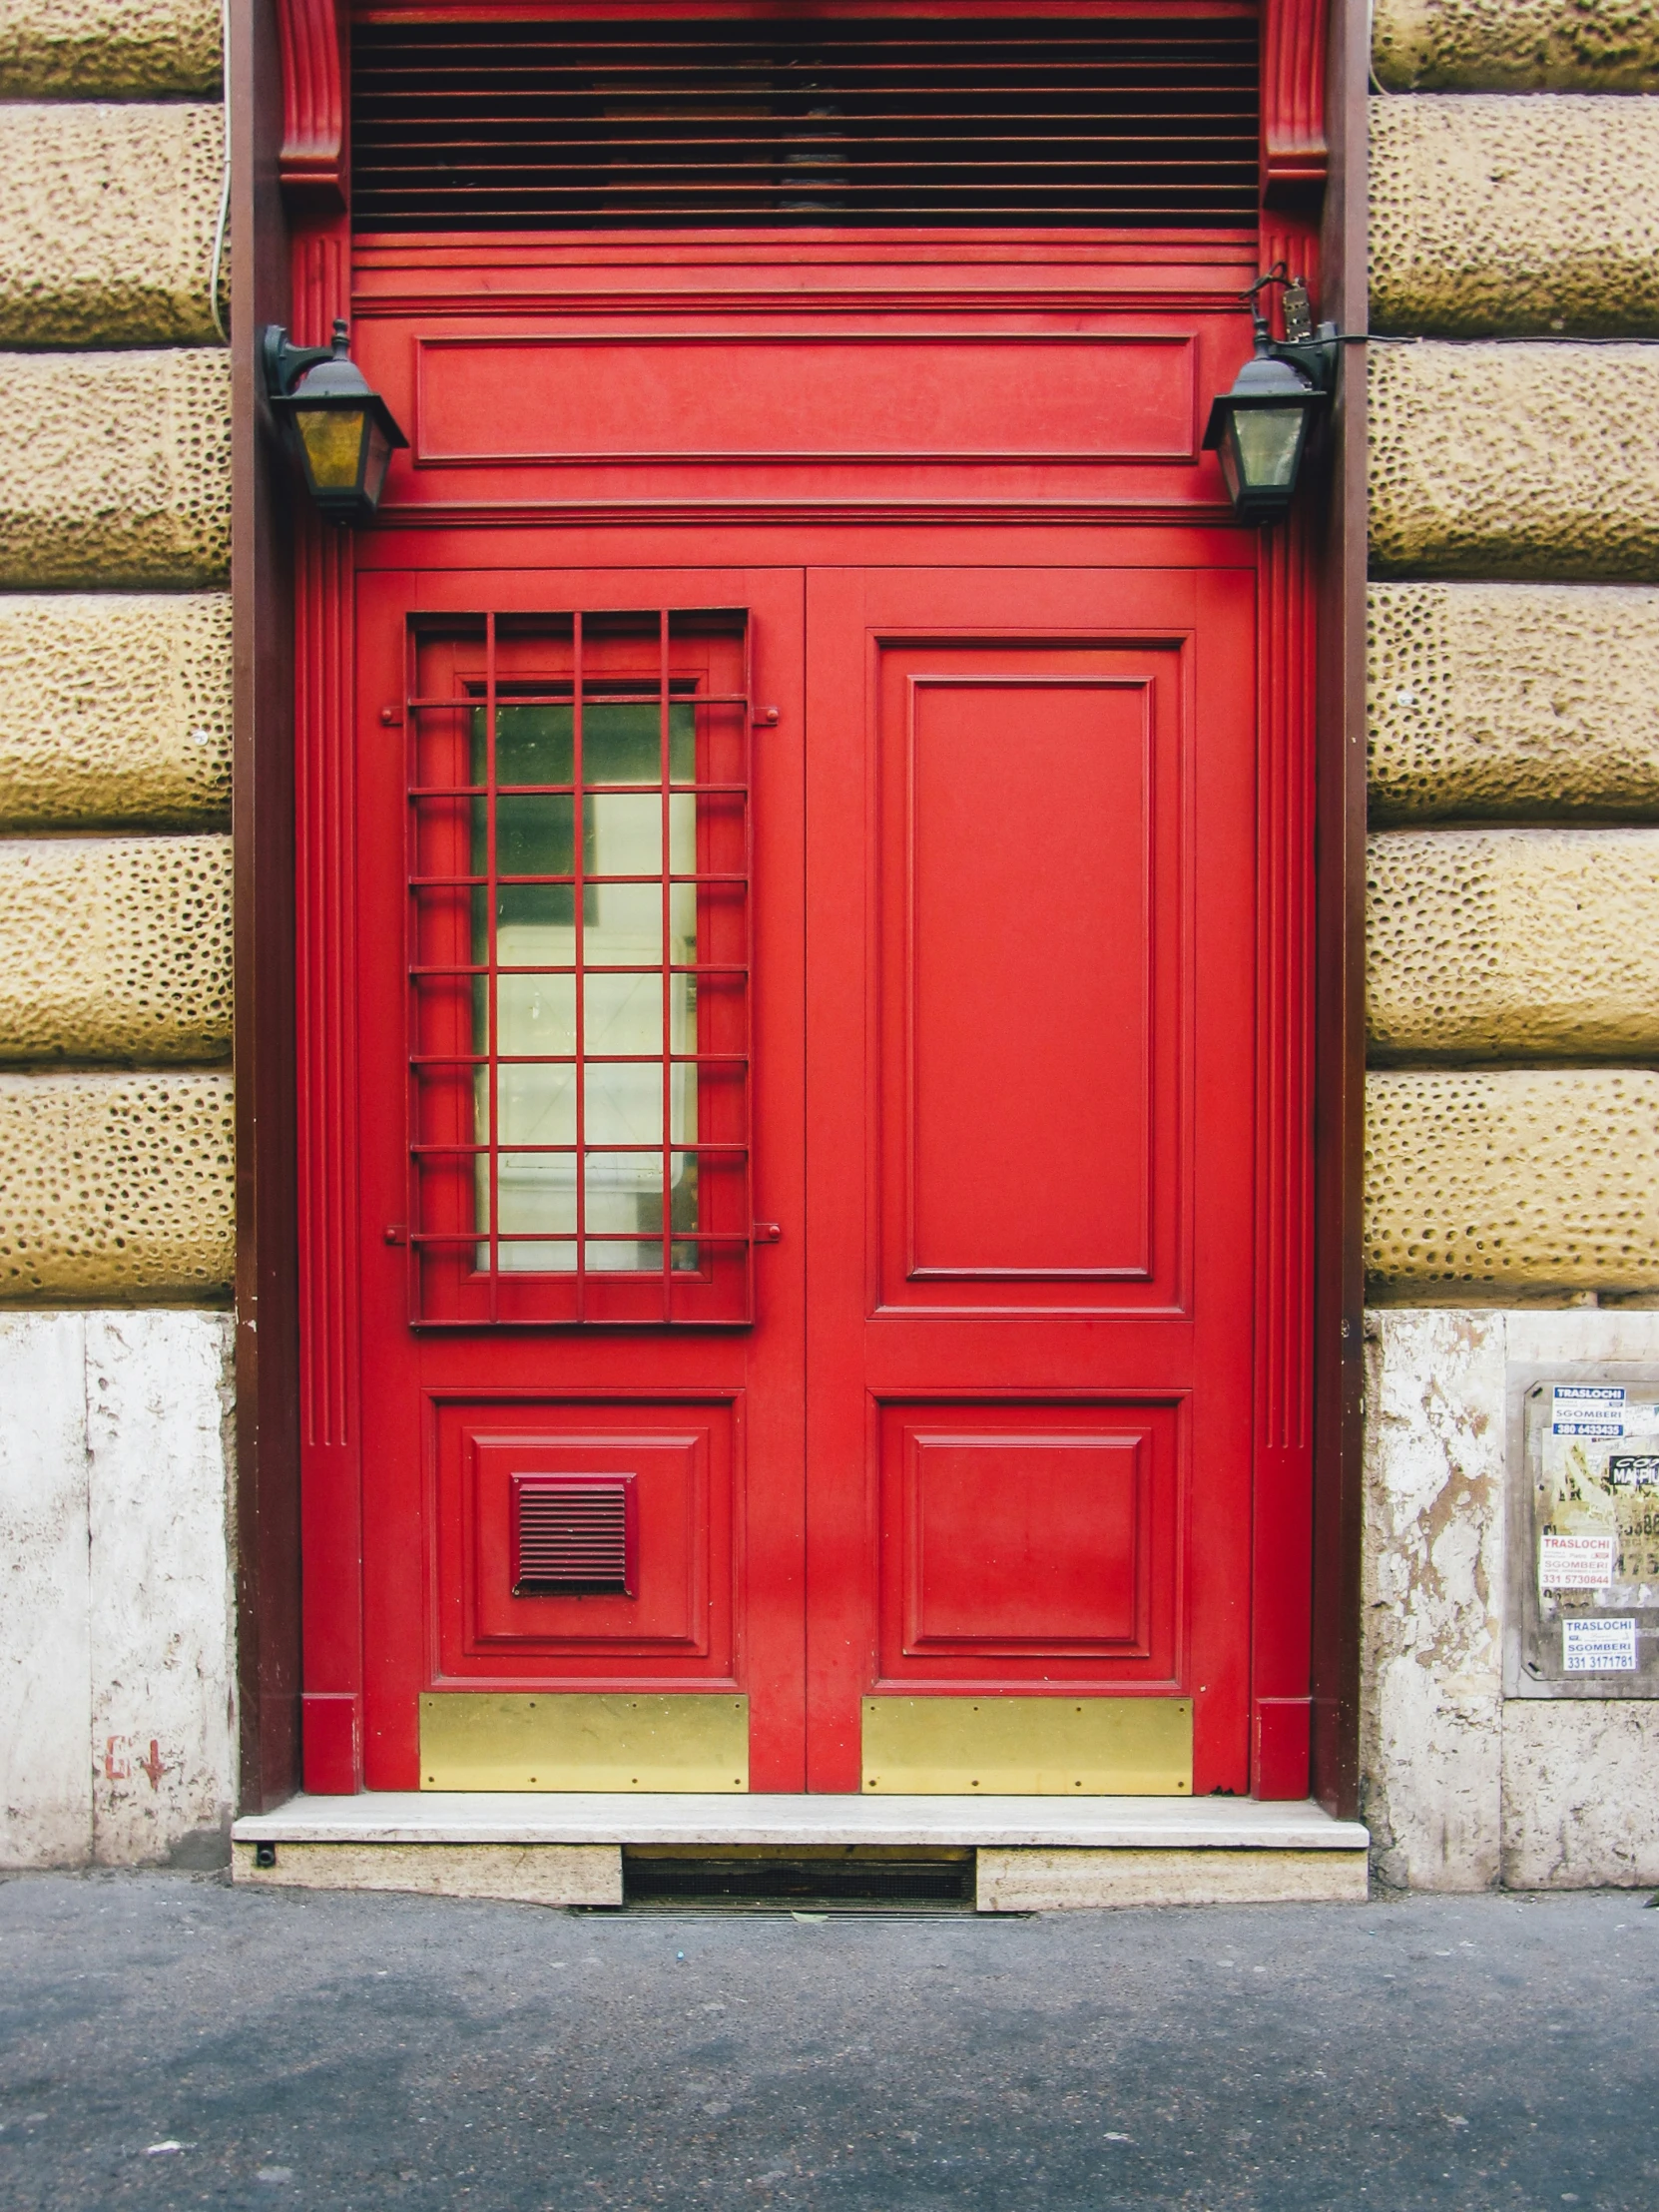
[[[1274,338],[1261,312],[1261,292],[1283,285],[1285,336]],[[1239,369],[1232,392],[1210,407],[1206,453],[1221,456],[1221,476],[1243,522],[1283,522],[1296,493],[1314,416],[1329,405],[1336,383],[1336,323],[1314,330],[1307,285],[1276,263],[1245,292],[1256,330],[1256,352]]]

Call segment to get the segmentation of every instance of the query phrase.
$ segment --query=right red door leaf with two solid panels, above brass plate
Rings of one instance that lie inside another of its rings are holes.
[[[1194,1699],[1248,1790],[1254,580],[807,588],[807,1774]],[[867,1787],[874,1783],[867,1783]]]

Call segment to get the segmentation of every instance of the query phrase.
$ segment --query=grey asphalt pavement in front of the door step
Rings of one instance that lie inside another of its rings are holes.
[[[768,1918],[0,1880],[0,2203],[1659,2208],[1646,1891]]]

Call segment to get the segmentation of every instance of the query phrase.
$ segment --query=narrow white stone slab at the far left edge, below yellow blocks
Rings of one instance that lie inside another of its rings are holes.
[[[93,1847],[86,1325],[0,1314],[0,1867]]]

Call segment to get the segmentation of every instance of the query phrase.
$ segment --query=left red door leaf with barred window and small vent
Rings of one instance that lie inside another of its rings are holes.
[[[732,1686],[805,1783],[801,593],[358,580],[369,1787],[434,1688]],[[515,1579],[538,1475],[630,1590]]]

